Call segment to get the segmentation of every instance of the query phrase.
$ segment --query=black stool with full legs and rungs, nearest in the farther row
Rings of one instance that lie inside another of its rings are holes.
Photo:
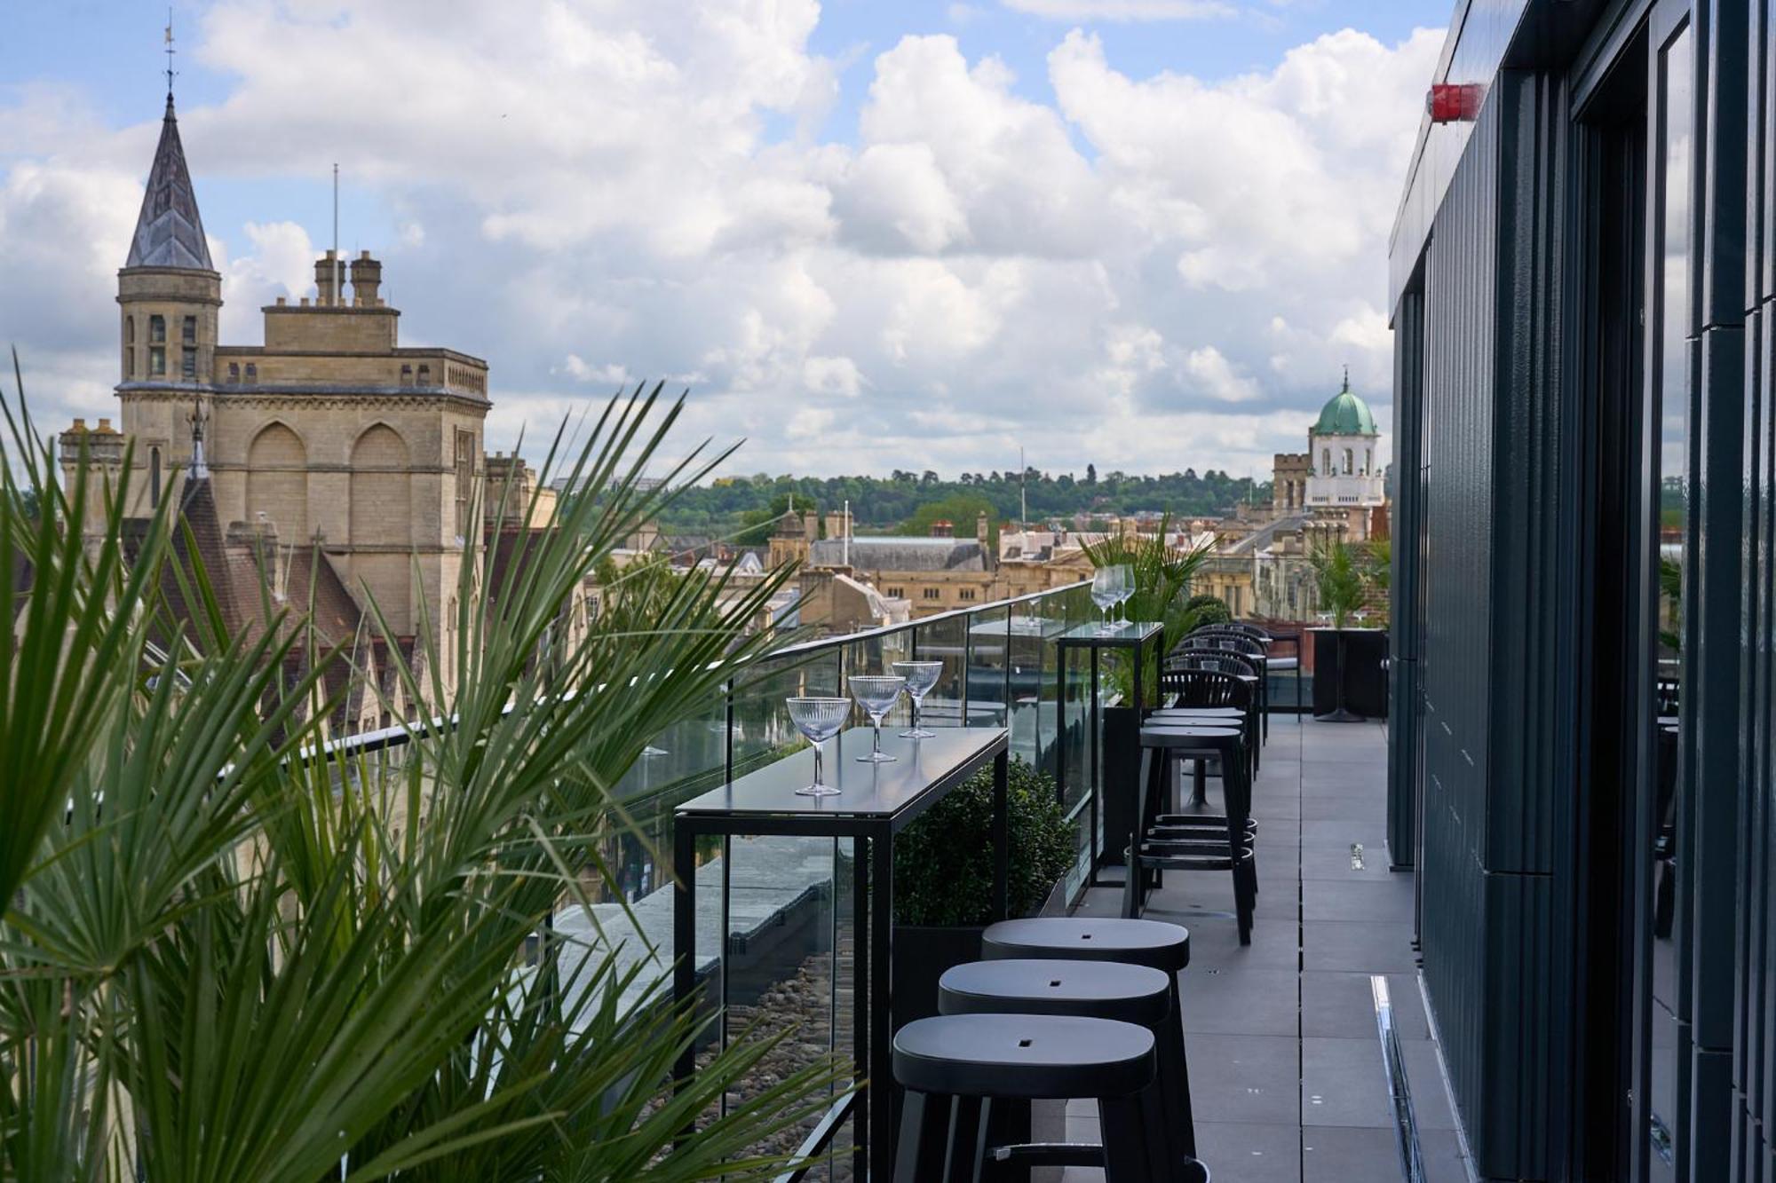
[[[1229,870],[1233,872],[1234,915],[1240,943],[1252,943],[1252,906],[1257,899],[1254,846],[1247,833],[1252,815],[1252,790],[1245,778],[1240,744],[1241,732],[1231,726],[1153,725],[1140,728],[1140,801],[1138,819],[1130,835],[1128,877],[1122,883],[1122,915],[1140,917],[1154,870]],[[1227,814],[1222,833],[1211,837],[1193,826],[1162,826],[1160,803],[1165,798],[1165,769],[1179,757],[1217,757]]]

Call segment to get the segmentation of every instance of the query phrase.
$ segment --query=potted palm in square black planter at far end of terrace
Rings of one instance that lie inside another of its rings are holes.
[[[1368,606],[1369,590],[1385,592],[1376,577],[1380,551],[1359,556],[1346,542],[1314,547],[1309,561],[1320,592],[1320,609],[1332,615],[1330,629],[1314,629],[1314,718],[1355,723],[1387,712],[1387,632],[1353,627]]]

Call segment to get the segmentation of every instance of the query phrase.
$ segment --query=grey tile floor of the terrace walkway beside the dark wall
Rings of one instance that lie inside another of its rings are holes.
[[[1183,998],[1202,1160],[1217,1183],[1403,1178],[1371,988],[1385,975],[1424,1178],[1462,1183],[1412,952],[1412,876],[1387,870],[1385,730],[1275,718],[1263,760],[1252,943],[1240,947],[1224,874],[1170,874],[1147,906],[1190,929]],[[1119,888],[1094,888],[1080,909],[1119,906]],[[1067,1112],[1069,1137],[1096,1140],[1089,1108]],[[1066,1183],[1101,1178],[1066,1172]]]

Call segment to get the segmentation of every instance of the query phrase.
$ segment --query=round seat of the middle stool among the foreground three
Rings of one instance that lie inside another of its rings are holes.
[[[1078,1014],[1158,1027],[1172,979],[1146,965],[1009,959],[959,965],[938,981],[941,1014]]]

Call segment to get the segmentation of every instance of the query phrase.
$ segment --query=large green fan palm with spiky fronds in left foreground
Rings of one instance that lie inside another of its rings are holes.
[[[300,613],[229,636],[172,499],[126,547],[126,490],[85,464],[64,488],[20,387],[0,464],[0,1179],[780,1165],[755,1147],[822,1110],[842,1066],[716,1117],[771,1044],[741,1037],[673,1092],[707,1018],[664,995],[668,954],[551,924],[590,911],[599,838],[625,824],[613,785],[646,739],[765,643],[746,623],[776,579],[693,574],[645,622],[568,627],[593,567],[707,471],[639,480],[677,414],[638,389],[581,444],[558,433],[545,471],[602,492],[519,529],[501,563],[465,558],[446,684],[439,631],[403,650],[375,606],[345,648]],[[426,703],[398,758],[329,742],[327,687],[371,648]]]

